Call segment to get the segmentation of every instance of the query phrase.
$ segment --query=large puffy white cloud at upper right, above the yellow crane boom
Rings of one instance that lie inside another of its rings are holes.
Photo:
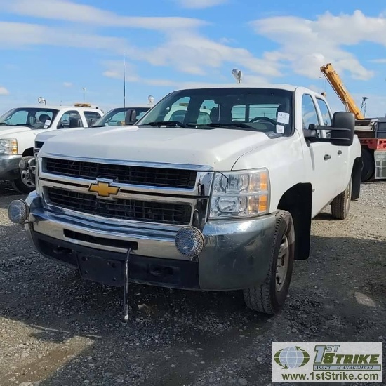
[[[316,20],[293,16],[264,18],[251,22],[258,34],[279,44],[279,50],[267,53],[277,62],[291,65],[293,72],[311,79],[320,76],[319,67],[333,62],[338,72],[348,72],[354,79],[367,80],[374,73],[346,50],[361,42],[386,46],[386,19],[369,17],[361,11],[352,15],[331,13]]]

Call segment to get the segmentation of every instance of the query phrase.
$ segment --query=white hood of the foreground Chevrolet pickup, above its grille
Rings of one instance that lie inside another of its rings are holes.
[[[255,131],[119,126],[56,135],[45,142],[41,156],[62,154],[88,159],[189,164],[227,171],[243,154],[273,142],[265,133]]]

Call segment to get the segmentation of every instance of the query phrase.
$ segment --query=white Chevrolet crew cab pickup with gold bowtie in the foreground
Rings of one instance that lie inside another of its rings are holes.
[[[362,167],[354,115],[314,91],[190,88],[135,126],[47,140],[36,191],[8,215],[42,255],[123,286],[126,319],[128,281],[242,290],[274,314],[294,260],[309,257],[312,218],[329,204],[347,217]]]

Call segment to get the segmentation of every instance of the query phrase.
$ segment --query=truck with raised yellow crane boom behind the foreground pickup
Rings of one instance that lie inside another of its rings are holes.
[[[326,76],[347,111],[355,115],[355,131],[361,142],[361,154],[364,161],[361,181],[368,182],[386,178],[386,119],[366,119],[364,117],[331,63],[322,66],[321,72]]]

